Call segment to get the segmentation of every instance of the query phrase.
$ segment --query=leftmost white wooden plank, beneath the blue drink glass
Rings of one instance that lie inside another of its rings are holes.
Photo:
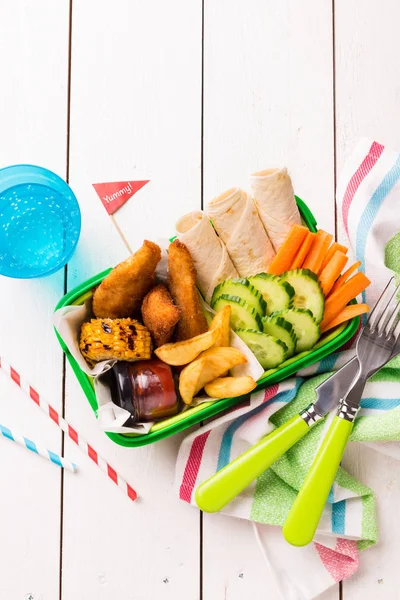
[[[1,167],[33,163],[65,177],[68,9],[67,0],[1,3]],[[61,271],[41,280],[2,277],[0,283],[0,355],[56,407],[62,403],[62,355],[50,316],[63,281]],[[60,450],[57,427],[1,372],[0,394],[3,425]],[[61,470],[1,438],[0,477],[0,597],[56,599]]]

